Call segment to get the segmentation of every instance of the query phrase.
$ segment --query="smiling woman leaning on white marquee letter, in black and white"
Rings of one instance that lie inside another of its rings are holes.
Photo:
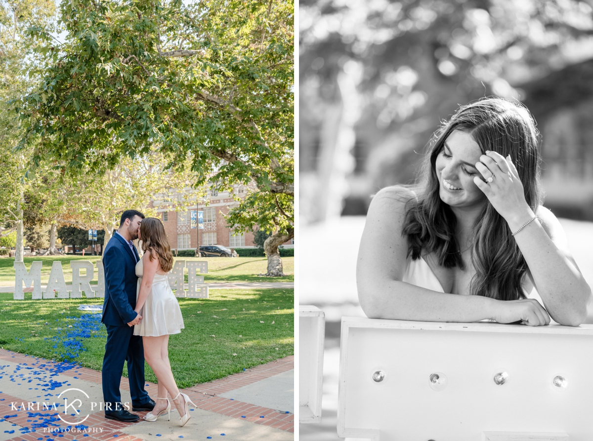
[[[369,207],[356,268],[365,314],[581,324],[591,289],[541,205],[527,109],[499,98],[461,107],[429,147],[419,182],[384,188]]]

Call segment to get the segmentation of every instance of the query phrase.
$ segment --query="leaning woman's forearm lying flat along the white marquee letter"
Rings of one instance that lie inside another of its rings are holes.
[[[369,318],[476,322],[496,317],[495,299],[447,294],[398,280],[358,283],[358,298]]]

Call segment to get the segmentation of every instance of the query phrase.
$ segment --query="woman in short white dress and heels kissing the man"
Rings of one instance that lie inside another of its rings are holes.
[[[168,343],[170,334],[179,334],[184,328],[181,309],[167,277],[173,267],[173,254],[159,219],[146,218],[140,224],[138,238],[142,241],[144,255],[136,264],[138,290],[135,311],[142,316],[134,326],[134,335],[142,335],[144,358],[157,376],[157,401],[151,413],[144,419],[156,421],[167,413],[170,418],[171,394],[180,416],[181,426],[189,420],[189,405],[195,404],[186,394],[179,392],[169,363]]]

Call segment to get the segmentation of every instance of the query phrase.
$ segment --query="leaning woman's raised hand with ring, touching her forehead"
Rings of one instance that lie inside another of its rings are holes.
[[[486,182],[476,176],[474,184],[486,194],[492,206],[509,225],[515,219],[521,222],[526,216],[527,219],[533,216],[528,215],[530,207],[525,201],[523,184],[510,155],[504,158],[496,152],[486,151],[486,155],[480,156],[476,168]]]

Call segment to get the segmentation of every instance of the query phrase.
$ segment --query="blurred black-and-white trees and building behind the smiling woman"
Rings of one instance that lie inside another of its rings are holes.
[[[300,215],[364,215],[458,106],[521,100],[546,206],[593,220],[593,0],[301,0]],[[323,191],[319,191],[323,188]]]

